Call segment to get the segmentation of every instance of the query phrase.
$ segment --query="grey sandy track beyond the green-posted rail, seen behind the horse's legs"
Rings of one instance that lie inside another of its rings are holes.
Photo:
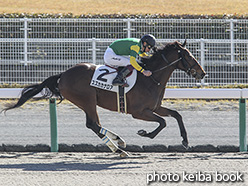
[[[0,101],[0,110],[8,102]],[[239,145],[238,100],[168,100],[163,105],[182,115],[190,145]],[[131,115],[101,108],[98,108],[98,114],[102,126],[119,134],[127,144],[181,144],[178,124],[174,118],[165,118],[167,127],[151,140],[138,136],[137,131],[144,129],[150,132],[157,127],[157,123],[133,119]],[[57,115],[58,143],[102,143],[85,126],[84,112],[74,105],[62,102],[57,106]],[[8,111],[6,115],[0,114],[0,143],[50,145],[48,101],[28,102],[19,109]]]

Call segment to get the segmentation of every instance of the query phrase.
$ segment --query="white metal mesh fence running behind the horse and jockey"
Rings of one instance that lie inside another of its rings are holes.
[[[248,20],[233,19],[0,19],[0,84],[30,84],[80,62],[103,64],[115,39],[153,34],[160,43],[187,38],[208,76],[196,82],[175,71],[168,85],[245,84]]]

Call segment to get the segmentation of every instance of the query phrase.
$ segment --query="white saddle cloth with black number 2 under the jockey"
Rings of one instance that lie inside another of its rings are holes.
[[[117,75],[117,70],[105,65],[97,65],[90,85],[111,92],[118,92],[118,86],[113,86],[112,81]],[[129,87],[125,87],[125,93],[129,92],[135,85],[137,71],[134,69],[132,74],[126,78]]]

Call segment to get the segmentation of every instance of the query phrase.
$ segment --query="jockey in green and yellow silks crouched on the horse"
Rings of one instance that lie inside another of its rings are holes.
[[[135,68],[145,76],[151,76],[150,70],[143,69],[136,61],[138,56],[147,56],[147,52],[156,44],[155,37],[146,34],[141,39],[126,38],[114,41],[104,53],[104,62],[112,67],[124,67],[113,80],[114,86],[126,86],[125,77]],[[131,65],[130,65],[131,64]]]

